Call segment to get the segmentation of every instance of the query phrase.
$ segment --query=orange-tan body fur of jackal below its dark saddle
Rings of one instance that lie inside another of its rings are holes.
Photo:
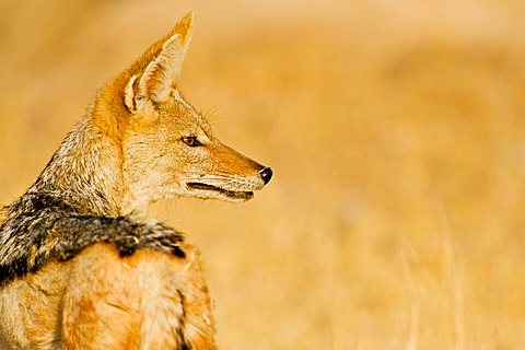
[[[212,304],[199,253],[187,243],[183,248],[184,259],[153,250],[120,258],[114,247],[98,244],[16,280],[0,299],[0,323],[12,330],[4,335],[8,343],[24,349],[177,349],[173,331],[184,313],[186,324],[179,326],[188,343],[214,349]]]

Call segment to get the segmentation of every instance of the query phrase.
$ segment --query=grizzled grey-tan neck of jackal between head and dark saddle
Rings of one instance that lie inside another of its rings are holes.
[[[78,122],[28,192],[60,196],[90,214],[122,214],[121,150],[90,116]]]

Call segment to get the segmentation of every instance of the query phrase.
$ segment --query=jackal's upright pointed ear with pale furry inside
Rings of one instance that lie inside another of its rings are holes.
[[[183,61],[191,40],[194,14],[186,15],[162,45],[159,55],[153,58],[138,83],[137,96],[151,98],[154,102],[166,101],[173,85],[180,78]]]

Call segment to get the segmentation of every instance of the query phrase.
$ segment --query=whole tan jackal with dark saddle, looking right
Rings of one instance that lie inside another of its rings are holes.
[[[96,94],[0,213],[0,348],[215,349],[197,248],[143,215],[173,196],[246,201],[272,172],[177,89],[192,19]]]

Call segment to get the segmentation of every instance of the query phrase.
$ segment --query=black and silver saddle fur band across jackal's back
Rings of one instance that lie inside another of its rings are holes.
[[[68,200],[69,199],[69,200]],[[0,285],[106,242],[121,256],[152,248],[184,257],[179,232],[156,221],[82,213],[71,198],[32,192],[7,207],[0,225]]]

